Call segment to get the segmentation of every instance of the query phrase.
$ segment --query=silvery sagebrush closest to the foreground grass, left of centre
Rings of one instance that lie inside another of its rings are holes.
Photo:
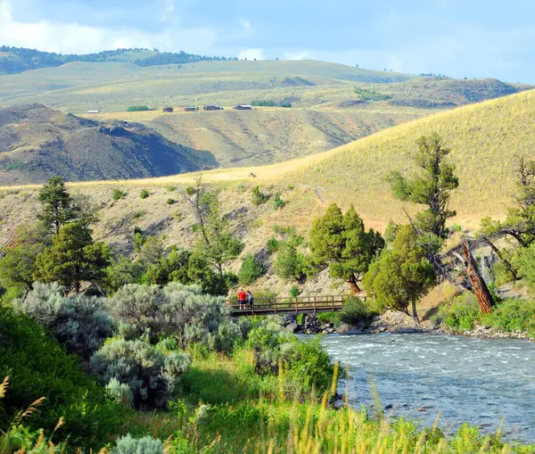
[[[124,339],[107,343],[90,360],[91,371],[109,389],[128,384],[136,409],[165,408],[190,364],[185,353],[165,355],[149,343]]]

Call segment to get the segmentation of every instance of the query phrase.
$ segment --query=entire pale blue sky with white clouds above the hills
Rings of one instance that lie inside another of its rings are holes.
[[[0,0],[0,45],[315,59],[535,83],[535,0]]]

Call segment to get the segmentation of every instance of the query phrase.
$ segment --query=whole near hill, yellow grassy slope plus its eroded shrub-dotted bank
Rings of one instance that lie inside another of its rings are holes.
[[[535,158],[534,122],[535,91],[527,91],[385,129],[324,153],[268,166],[214,169],[202,175],[221,190],[228,219],[246,242],[244,253],[262,251],[275,225],[292,225],[306,235],[312,219],[330,202],[343,207],[353,203],[366,226],[382,229],[390,219],[406,221],[404,205],[393,200],[385,177],[393,169],[406,174],[415,171],[410,156],[416,151],[416,139],[436,130],[452,149],[451,159],[457,165],[460,182],[452,198],[452,208],[457,210],[452,222],[473,229],[483,216],[503,217],[506,205],[512,203],[514,154],[527,153]],[[180,194],[192,181],[193,174],[182,174],[72,183],[70,189],[88,194],[103,207],[95,234],[116,248],[128,249],[135,226],[152,235],[165,235],[168,244],[188,247],[196,221]],[[265,194],[280,193],[287,202],[284,210],[275,210],[271,201],[254,206],[254,186]],[[33,219],[37,187],[8,186],[0,190],[0,242],[9,239],[18,224]],[[113,202],[113,188],[123,189],[126,199]],[[141,199],[139,193],[145,188],[150,196]],[[169,197],[176,202],[169,205]],[[405,208],[409,212],[417,210],[415,206]],[[236,260],[231,268],[237,270],[239,265]],[[291,283],[277,279],[269,269],[259,285],[287,292]],[[331,281],[325,276],[318,279],[308,282],[303,290],[332,291]]]

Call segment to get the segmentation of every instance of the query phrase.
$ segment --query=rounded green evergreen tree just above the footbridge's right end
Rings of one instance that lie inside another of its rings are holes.
[[[329,205],[325,214],[310,228],[310,252],[317,268],[329,267],[329,275],[348,282],[354,293],[360,291],[358,282],[369,264],[384,247],[379,232],[369,229],[357,211],[342,214],[336,203]]]

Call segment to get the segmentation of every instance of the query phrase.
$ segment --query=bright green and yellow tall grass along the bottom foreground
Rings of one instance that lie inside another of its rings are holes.
[[[169,403],[167,412],[128,414],[122,433],[160,439],[164,452],[186,453],[475,453],[533,452],[535,446],[502,442],[498,434],[481,435],[462,425],[446,438],[435,425],[422,428],[406,419],[391,419],[382,411],[333,409],[329,398],[289,396],[284,392],[284,375],[260,378],[254,374],[252,351],[236,350],[232,357],[217,353],[192,352],[193,363],[185,376],[185,399]],[[0,387],[0,398],[9,387]],[[256,394],[256,397],[255,397]],[[260,397],[259,397],[260,396]],[[380,409],[376,397],[374,408]],[[38,407],[38,406],[36,406]],[[26,417],[31,417],[30,410]],[[440,415],[437,417],[439,422]],[[20,422],[23,422],[21,418]],[[32,440],[20,453],[71,452],[54,437],[40,433],[30,437],[21,425],[0,433],[0,452],[7,454],[9,441],[26,436]],[[130,452],[114,448],[111,442],[99,451]],[[146,452],[136,450],[132,452]]]

